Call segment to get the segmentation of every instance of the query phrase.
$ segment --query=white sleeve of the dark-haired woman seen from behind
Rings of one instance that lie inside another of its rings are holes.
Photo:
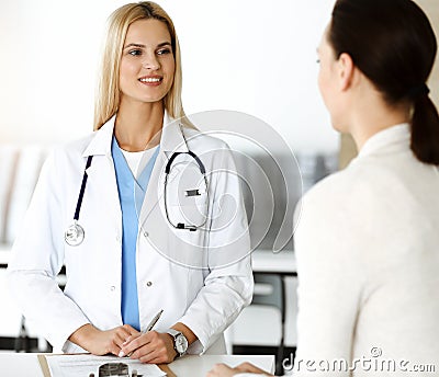
[[[299,272],[294,376],[350,376],[349,369],[325,369],[327,363],[351,361],[364,281],[358,235],[352,232],[354,218],[337,187],[327,181],[297,206],[302,212],[294,235]]]

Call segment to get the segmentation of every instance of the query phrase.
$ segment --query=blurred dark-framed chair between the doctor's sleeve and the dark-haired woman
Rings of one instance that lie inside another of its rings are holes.
[[[283,350],[285,340],[285,286],[279,274],[254,273],[255,293],[251,305],[267,305],[281,313],[281,340],[275,357],[275,374],[283,375]]]

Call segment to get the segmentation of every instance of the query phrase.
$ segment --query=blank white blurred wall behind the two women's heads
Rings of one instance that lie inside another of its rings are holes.
[[[91,130],[105,20],[126,2],[0,2],[0,142],[52,145]],[[316,84],[333,0],[158,2],[179,34],[188,114],[240,111],[294,150],[337,150]]]

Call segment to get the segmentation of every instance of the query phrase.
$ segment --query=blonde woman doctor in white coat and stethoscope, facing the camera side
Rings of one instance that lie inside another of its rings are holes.
[[[224,353],[252,295],[247,218],[228,147],[184,116],[159,5],[113,12],[101,73],[95,132],[41,173],[9,264],[13,296],[58,351],[144,363]]]

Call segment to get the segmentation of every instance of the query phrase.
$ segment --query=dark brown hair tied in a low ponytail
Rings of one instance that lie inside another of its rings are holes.
[[[437,42],[410,0],[338,0],[328,30],[336,57],[347,53],[390,105],[413,105],[410,147],[419,161],[439,164],[439,116],[426,84]]]

